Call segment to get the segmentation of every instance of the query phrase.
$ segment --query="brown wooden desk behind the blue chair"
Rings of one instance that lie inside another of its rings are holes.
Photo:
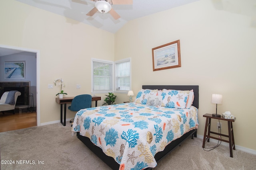
[[[60,104],[60,123],[63,126],[66,126],[67,103],[71,103],[73,99],[74,99],[74,97],[56,98],[56,103]],[[92,96],[92,101],[95,101],[95,107],[97,107],[98,100],[101,100],[100,96]],[[62,115],[63,115],[62,104],[64,104],[64,122],[62,121]]]

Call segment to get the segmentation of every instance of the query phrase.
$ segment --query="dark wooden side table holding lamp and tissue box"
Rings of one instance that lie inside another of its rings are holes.
[[[210,138],[216,139],[216,140],[219,140],[219,141],[227,142],[227,143],[229,143],[230,157],[233,158],[232,149],[236,150],[236,148],[235,148],[232,122],[234,122],[236,120],[236,117],[234,119],[224,119],[223,117],[212,117],[212,114],[204,114],[203,117],[206,117],[206,123],[205,123],[204,139],[203,139],[203,146],[202,147],[204,148],[205,141],[209,142]],[[211,129],[211,119],[219,119],[219,120],[227,121],[228,122],[228,135],[224,135],[224,134],[221,134],[221,133],[216,133],[216,132],[210,131],[210,129]],[[207,131],[208,131],[208,133],[207,133]],[[207,133],[207,135],[206,135],[206,133]],[[228,137],[228,141],[224,140],[224,139],[219,139],[217,137],[212,137],[212,136],[210,136],[210,133],[220,135],[220,136],[224,136],[224,137]]]

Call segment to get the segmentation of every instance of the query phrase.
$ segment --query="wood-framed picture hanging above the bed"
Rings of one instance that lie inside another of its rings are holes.
[[[180,40],[152,49],[153,71],[181,67]]]

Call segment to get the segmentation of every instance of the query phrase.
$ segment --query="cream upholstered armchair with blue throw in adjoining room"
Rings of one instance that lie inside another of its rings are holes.
[[[10,92],[4,92],[0,99],[0,111],[4,113],[4,111],[12,110],[13,114],[15,114],[15,105],[17,102],[17,98],[20,95],[21,93],[15,90]]]

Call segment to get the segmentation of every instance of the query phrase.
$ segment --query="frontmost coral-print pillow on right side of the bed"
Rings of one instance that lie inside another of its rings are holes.
[[[189,90],[166,90],[163,89],[162,106],[184,109],[188,100]]]

